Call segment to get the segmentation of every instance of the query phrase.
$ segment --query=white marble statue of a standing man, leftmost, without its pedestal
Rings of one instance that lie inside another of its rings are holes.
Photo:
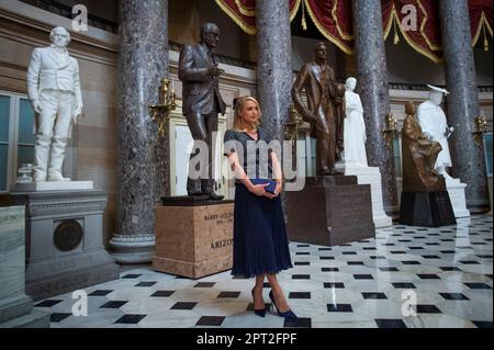
[[[82,110],[79,65],[69,56],[70,34],[61,26],[49,34],[52,45],[33,50],[27,93],[37,113],[34,181],[70,181],[61,174],[71,123]]]

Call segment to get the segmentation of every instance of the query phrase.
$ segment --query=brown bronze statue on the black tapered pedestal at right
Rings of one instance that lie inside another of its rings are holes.
[[[445,191],[444,177],[434,170],[441,145],[424,135],[415,112],[415,105],[407,102],[402,129],[403,192]]]

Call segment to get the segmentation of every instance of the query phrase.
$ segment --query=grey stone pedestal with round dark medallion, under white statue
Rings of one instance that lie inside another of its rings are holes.
[[[119,278],[104,250],[101,191],[13,192],[26,208],[26,293],[35,301]]]

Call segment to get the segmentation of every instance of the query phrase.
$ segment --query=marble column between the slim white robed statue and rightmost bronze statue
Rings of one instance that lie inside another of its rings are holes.
[[[396,176],[393,151],[381,131],[390,113],[386,56],[380,0],[353,0],[353,33],[357,54],[357,92],[363,105],[367,127],[367,157],[370,167],[381,171],[384,211],[396,213]]]

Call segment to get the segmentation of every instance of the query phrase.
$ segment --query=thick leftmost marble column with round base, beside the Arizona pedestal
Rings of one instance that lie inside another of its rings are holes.
[[[121,0],[119,52],[117,225],[110,241],[119,263],[150,262],[154,206],[168,194],[168,140],[147,106],[168,76],[168,1]]]

